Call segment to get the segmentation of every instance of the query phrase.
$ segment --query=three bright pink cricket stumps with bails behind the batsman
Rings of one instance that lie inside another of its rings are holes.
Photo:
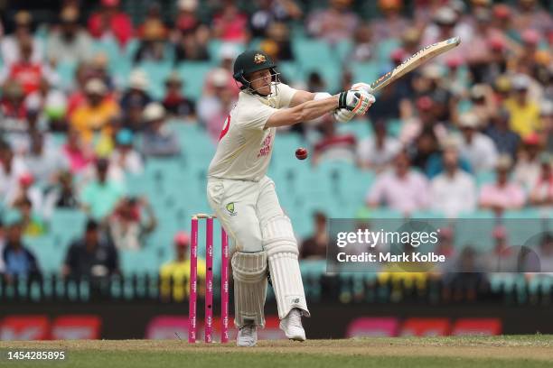
[[[192,244],[190,246],[190,293],[188,309],[188,342],[196,342],[198,297],[198,219],[205,218],[206,274],[205,274],[205,339],[212,342],[213,327],[213,218],[215,215],[192,216]],[[229,238],[220,226],[220,342],[229,342]]]

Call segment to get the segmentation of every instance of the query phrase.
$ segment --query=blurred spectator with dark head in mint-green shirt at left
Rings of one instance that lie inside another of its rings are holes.
[[[111,215],[119,199],[125,194],[124,186],[108,177],[109,161],[96,161],[97,178],[90,180],[80,192],[80,206],[92,218],[103,221]]]

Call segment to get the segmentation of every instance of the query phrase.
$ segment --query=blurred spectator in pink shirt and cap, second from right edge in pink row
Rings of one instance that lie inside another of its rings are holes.
[[[484,184],[480,189],[479,204],[483,209],[492,209],[498,215],[505,210],[519,209],[524,206],[524,189],[509,178],[512,160],[507,155],[499,157],[495,164],[494,183]]]

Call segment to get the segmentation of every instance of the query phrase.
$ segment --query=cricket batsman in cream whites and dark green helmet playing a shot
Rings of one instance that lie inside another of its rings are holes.
[[[237,345],[254,346],[265,326],[267,268],[277,297],[280,328],[305,341],[309,317],[290,219],[267,178],[276,128],[333,113],[340,122],[363,115],[374,103],[366,84],[331,96],[280,83],[277,65],[262,51],[245,51],[234,62],[239,99],[227,116],[208,171],[207,196],[235,243],[232,256]]]

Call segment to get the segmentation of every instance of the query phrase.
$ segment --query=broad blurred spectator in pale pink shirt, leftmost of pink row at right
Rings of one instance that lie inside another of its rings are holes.
[[[428,180],[409,168],[407,152],[399,152],[395,168],[382,174],[367,195],[370,207],[385,205],[409,215],[430,204]]]

